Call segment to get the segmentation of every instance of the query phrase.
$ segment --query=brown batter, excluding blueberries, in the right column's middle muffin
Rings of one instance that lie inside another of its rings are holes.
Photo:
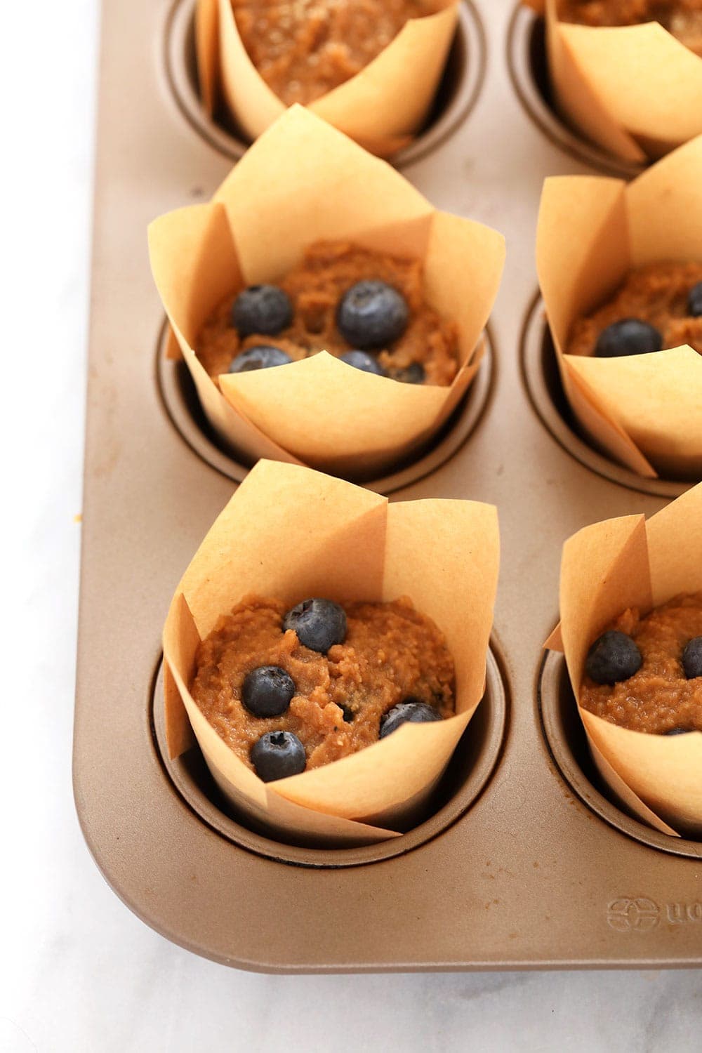
[[[702,318],[687,314],[687,296],[700,281],[702,263],[649,263],[637,267],[611,300],[574,323],[567,353],[594,355],[602,330],[623,318],[639,318],[656,326],[664,347],[688,343],[702,355]]]

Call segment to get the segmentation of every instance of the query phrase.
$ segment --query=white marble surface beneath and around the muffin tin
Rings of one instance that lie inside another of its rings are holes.
[[[97,6],[3,9],[0,1051],[699,1050],[694,971],[247,975],[152,932],[91,860],[71,737]]]

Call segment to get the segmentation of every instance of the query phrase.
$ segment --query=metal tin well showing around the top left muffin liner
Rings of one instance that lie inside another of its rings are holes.
[[[164,27],[164,64],[174,98],[192,127],[224,157],[237,161],[250,140],[220,107],[214,118],[200,100],[195,57],[196,0],[175,0]],[[436,150],[466,119],[485,77],[485,34],[472,0],[461,3],[454,43],[430,113],[414,141],[392,160],[397,167]]]

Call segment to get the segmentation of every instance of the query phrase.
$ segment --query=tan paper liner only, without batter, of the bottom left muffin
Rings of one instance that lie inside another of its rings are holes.
[[[297,840],[367,843],[421,812],[483,694],[497,588],[497,510],[473,501],[386,498],[299,465],[260,461],[215,521],[163,631],[166,736],[192,743],[239,812]],[[188,684],[198,643],[245,595],[294,604],[310,595],[387,601],[406,595],[445,634],[457,715],[404,726],[361,752],[262,782],[202,716]]]

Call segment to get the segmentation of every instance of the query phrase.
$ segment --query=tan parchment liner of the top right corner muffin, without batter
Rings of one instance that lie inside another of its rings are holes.
[[[558,18],[558,0],[525,0],[546,18],[559,108],[625,161],[667,154],[702,133],[702,59],[659,22],[597,27]]]

